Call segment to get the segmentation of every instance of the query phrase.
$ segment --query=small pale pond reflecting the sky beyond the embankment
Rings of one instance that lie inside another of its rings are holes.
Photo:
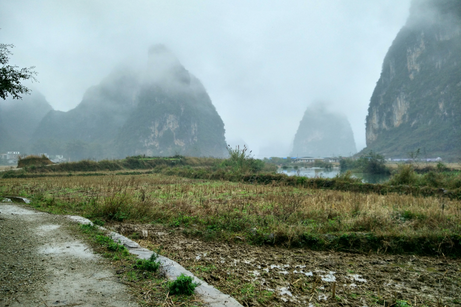
[[[308,178],[333,178],[341,171],[339,167],[333,167],[328,169],[320,167],[300,167],[298,169],[279,168],[277,172],[287,174],[288,176],[304,176]],[[389,180],[389,175],[387,174],[352,173],[352,177],[362,178],[362,181],[364,183],[383,183]]]

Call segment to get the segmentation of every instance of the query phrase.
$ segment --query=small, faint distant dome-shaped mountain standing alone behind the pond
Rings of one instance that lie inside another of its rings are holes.
[[[348,157],[355,152],[352,128],[344,115],[329,112],[320,104],[306,109],[291,157]]]

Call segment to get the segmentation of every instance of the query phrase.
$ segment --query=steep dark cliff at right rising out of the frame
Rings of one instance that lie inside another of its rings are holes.
[[[370,99],[364,150],[461,157],[461,2],[413,1]]]

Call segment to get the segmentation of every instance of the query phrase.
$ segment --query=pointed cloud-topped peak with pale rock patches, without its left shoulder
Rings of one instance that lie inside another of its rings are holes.
[[[124,155],[226,153],[224,123],[201,82],[164,46],[149,51],[136,107],[116,138]]]

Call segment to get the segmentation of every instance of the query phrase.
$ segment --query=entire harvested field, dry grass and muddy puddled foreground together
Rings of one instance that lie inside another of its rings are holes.
[[[162,174],[0,179],[161,249],[243,305],[461,303],[461,202]]]

